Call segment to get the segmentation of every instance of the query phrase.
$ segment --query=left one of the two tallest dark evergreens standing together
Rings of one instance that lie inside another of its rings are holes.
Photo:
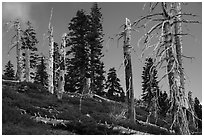
[[[90,78],[90,48],[87,42],[89,23],[89,18],[83,10],[77,11],[76,17],[69,23],[68,46],[71,48],[65,90],[70,90],[67,87],[71,87],[73,92],[82,92],[86,78]],[[72,85],[67,85],[70,83]]]

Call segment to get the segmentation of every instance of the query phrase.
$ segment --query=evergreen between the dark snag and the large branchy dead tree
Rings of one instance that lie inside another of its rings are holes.
[[[152,99],[159,95],[159,87],[157,81],[157,70],[153,65],[152,58],[146,58],[145,67],[142,73],[142,100],[147,102],[149,109]]]

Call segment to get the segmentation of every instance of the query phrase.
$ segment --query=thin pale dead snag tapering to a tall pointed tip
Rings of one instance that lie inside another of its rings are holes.
[[[48,68],[48,91],[54,94],[54,84],[53,84],[53,64],[54,64],[54,38],[53,38],[53,26],[51,26],[52,11],[50,15],[50,22],[48,26],[48,41],[49,41],[49,68]]]

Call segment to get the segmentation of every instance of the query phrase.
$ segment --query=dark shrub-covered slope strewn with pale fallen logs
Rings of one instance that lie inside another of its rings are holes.
[[[62,100],[33,83],[2,83],[3,135],[118,135],[118,134],[174,134],[168,129],[170,119],[150,118],[148,112],[136,107],[137,121],[126,119],[126,105],[66,93]],[[81,100],[81,111],[80,111]]]

